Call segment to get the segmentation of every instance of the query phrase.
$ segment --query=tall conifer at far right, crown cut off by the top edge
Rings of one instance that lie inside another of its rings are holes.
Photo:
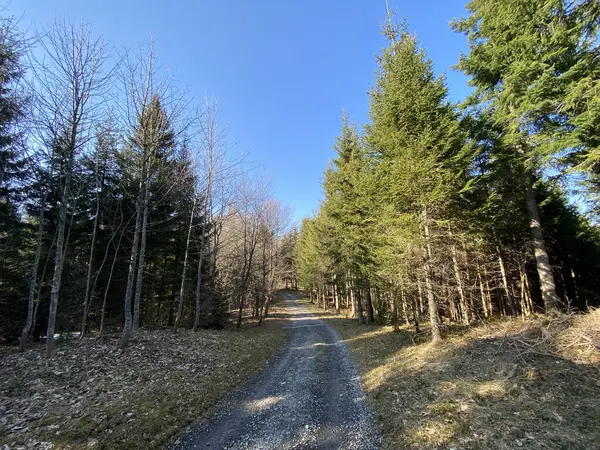
[[[504,145],[520,170],[542,296],[546,310],[552,311],[559,299],[534,181],[543,163],[564,150],[557,146],[561,140],[564,145],[565,134],[572,135],[567,130],[576,119],[565,105],[573,85],[590,73],[582,66],[594,59],[590,46],[595,37],[590,36],[597,30],[598,6],[587,1],[472,0],[467,9],[470,15],[453,24],[468,35],[471,46],[457,67],[472,77],[472,101],[485,105],[503,128]]]

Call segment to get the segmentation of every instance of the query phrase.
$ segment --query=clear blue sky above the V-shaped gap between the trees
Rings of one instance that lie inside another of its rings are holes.
[[[450,95],[468,92],[451,66],[467,48],[449,28],[466,0],[390,0],[447,75]],[[55,18],[91,23],[117,47],[150,37],[164,66],[198,99],[215,96],[231,139],[272,177],[275,195],[310,214],[321,198],[342,110],[364,123],[385,0],[10,0],[23,26]]]

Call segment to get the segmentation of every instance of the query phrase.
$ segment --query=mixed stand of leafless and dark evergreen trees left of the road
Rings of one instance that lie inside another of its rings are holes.
[[[290,210],[147,48],[0,24],[0,339],[237,327],[291,267]],[[75,334],[74,334],[75,333]]]

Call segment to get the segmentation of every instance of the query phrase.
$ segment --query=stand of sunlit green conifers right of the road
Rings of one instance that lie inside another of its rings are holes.
[[[389,14],[370,121],[344,116],[300,284],[363,323],[434,342],[450,324],[600,303],[600,5],[473,0],[451,26],[472,93],[452,103]]]

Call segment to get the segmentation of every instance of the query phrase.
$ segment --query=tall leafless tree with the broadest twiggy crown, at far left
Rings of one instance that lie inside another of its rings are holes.
[[[92,138],[103,115],[104,94],[112,71],[106,71],[106,46],[87,25],[56,22],[40,41],[43,57],[32,67],[40,152],[54,151],[60,180],[54,275],[46,333],[46,355],[54,350],[54,327],[66,250],[65,233],[71,209],[73,171],[77,157]],[[50,159],[51,160],[51,159]]]

